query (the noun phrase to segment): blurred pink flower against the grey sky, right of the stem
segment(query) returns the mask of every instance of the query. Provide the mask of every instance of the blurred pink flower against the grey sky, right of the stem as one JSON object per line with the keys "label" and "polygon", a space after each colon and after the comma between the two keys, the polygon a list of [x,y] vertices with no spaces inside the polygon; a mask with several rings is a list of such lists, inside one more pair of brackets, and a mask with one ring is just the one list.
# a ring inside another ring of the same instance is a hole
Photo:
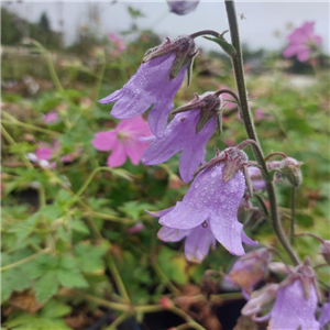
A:
{"label": "blurred pink flower against the grey sky, right of the stem", "polygon": [[287,36],[289,45],[284,50],[284,57],[297,55],[298,61],[306,62],[310,57],[311,50],[320,46],[322,38],[314,33],[315,22],[305,22]]}

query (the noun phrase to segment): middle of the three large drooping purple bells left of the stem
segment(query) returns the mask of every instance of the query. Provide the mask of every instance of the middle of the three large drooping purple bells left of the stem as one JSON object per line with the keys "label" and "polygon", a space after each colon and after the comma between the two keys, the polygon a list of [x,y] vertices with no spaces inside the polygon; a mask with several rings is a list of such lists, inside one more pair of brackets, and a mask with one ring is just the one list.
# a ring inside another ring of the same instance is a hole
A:
{"label": "middle of the three large drooping purple bells left of the stem", "polygon": [[145,165],[166,162],[178,152],[179,172],[183,180],[193,179],[194,172],[205,162],[205,145],[217,127],[221,99],[217,92],[206,92],[175,111],[177,113],[162,138],[152,138],[152,143],[142,156]]}

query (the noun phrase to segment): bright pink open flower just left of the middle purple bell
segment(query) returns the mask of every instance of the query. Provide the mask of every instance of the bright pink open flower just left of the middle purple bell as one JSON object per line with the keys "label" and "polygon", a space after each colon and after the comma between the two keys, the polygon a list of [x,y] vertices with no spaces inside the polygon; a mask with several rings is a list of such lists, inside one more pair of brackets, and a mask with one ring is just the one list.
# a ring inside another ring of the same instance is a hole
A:
{"label": "bright pink open flower just left of the middle purple bell", "polygon": [[112,150],[107,162],[110,167],[121,166],[127,157],[138,165],[148,145],[139,138],[151,134],[147,122],[139,116],[122,120],[113,131],[96,133],[91,143],[98,151]]}

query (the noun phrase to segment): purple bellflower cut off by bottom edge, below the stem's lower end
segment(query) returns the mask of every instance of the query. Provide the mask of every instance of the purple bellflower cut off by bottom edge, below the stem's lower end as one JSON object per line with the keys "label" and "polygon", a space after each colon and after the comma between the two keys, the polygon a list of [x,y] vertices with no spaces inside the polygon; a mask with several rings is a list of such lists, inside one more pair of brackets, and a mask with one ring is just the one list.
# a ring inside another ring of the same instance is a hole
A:
{"label": "purple bellflower cut off by bottom edge, below the stem's lower end", "polygon": [[306,258],[278,287],[276,301],[271,312],[255,321],[268,318],[270,330],[319,330],[315,312],[318,304],[316,275]]}

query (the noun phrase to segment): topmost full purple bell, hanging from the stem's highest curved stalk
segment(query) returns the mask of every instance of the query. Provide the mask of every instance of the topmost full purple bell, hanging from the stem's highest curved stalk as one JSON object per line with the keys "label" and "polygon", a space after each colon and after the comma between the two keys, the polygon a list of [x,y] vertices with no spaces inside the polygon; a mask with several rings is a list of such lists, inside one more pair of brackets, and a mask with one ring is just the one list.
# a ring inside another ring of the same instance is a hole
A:
{"label": "topmost full purple bell, hanging from the stem's highest curved stalk", "polygon": [[146,52],[136,74],[100,103],[114,102],[111,114],[119,119],[138,117],[152,107],[148,113],[151,131],[162,136],[167,117],[173,109],[173,98],[180,88],[187,67],[197,55],[194,38],[178,36]]}

